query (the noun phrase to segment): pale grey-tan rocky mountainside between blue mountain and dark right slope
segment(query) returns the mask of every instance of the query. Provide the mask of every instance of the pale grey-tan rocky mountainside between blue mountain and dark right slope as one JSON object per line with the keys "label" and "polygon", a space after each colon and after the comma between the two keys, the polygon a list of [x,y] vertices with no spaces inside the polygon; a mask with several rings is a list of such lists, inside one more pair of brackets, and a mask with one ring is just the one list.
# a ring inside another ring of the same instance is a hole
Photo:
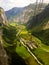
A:
{"label": "pale grey-tan rocky mountainside between blue mountain and dark right slope", "polygon": [[20,13],[15,20],[20,23],[26,23],[34,14],[34,4],[30,4],[29,6],[25,7],[25,9]]}

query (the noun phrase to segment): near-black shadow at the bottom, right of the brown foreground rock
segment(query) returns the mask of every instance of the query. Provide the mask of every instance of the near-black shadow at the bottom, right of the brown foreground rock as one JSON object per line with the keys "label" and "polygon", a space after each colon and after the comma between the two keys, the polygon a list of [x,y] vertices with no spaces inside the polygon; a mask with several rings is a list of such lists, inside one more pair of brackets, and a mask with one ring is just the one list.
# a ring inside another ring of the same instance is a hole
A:
{"label": "near-black shadow at the bottom, right of the brown foreground rock", "polygon": [[9,56],[9,65],[26,65],[25,60],[22,59],[16,52],[9,52],[6,48],[7,55]]}

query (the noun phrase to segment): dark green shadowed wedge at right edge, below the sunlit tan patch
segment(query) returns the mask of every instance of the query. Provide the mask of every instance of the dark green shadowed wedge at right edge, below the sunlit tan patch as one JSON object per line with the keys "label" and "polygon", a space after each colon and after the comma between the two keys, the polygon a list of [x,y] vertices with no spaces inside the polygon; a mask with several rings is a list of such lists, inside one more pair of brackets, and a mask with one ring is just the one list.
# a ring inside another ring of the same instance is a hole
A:
{"label": "dark green shadowed wedge at right edge, below the sunlit tan patch", "polygon": [[44,44],[49,45],[49,29],[33,32],[32,34],[38,37]]}

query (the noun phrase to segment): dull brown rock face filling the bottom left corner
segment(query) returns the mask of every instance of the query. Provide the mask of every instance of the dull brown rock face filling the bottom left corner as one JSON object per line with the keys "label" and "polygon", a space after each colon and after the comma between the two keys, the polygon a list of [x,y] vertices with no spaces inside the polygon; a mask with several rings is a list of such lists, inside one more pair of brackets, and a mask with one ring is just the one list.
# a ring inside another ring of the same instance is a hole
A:
{"label": "dull brown rock face filling the bottom left corner", "polygon": [[0,65],[8,65],[8,57],[1,43],[0,43]]}

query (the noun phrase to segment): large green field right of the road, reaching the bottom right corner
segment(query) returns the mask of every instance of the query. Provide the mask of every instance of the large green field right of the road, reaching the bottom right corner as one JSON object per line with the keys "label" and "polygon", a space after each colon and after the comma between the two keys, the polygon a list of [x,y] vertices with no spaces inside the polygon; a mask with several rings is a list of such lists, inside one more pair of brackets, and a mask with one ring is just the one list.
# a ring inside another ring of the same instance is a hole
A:
{"label": "large green field right of the road, reaching the bottom right corner", "polygon": [[33,51],[34,54],[44,65],[49,65],[49,46],[42,43],[37,37],[33,36],[33,38],[39,44],[39,47]]}

